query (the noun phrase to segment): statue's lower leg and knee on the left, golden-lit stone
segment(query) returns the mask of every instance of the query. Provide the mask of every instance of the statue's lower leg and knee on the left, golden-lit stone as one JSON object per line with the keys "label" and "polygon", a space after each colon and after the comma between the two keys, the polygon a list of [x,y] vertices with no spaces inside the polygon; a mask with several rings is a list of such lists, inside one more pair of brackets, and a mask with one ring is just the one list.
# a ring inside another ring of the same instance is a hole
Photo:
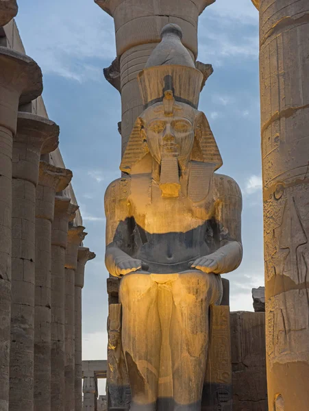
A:
{"label": "statue's lower leg and knee on the left, golden-lit stone", "polygon": [[132,391],[131,411],[156,410],[161,327],[158,284],[150,275],[132,273],[121,279],[122,343]]}

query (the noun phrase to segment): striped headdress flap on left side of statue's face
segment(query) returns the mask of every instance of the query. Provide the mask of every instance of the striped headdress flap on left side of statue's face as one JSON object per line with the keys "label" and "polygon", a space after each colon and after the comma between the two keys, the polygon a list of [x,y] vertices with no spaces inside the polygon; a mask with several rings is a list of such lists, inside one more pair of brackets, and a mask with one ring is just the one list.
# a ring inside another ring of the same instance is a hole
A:
{"label": "striped headdress flap on left side of statue's face", "polygon": [[138,117],[129,136],[120,169],[124,173],[131,173],[132,166],[142,160],[149,153],[143,119]]}

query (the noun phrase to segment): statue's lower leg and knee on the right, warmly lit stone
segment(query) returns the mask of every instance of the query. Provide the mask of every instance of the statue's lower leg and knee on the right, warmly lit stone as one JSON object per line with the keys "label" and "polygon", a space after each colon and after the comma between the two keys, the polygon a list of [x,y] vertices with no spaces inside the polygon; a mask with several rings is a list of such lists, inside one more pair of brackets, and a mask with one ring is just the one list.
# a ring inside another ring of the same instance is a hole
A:
{"label": "statue's lower leg and knee on the right, warmly lit stone", "polygon": [[217,303],[221,279],[199,271],[180,273],[173,282],[171,356],[175,410],[201,410],[206,371],[209,306]]}

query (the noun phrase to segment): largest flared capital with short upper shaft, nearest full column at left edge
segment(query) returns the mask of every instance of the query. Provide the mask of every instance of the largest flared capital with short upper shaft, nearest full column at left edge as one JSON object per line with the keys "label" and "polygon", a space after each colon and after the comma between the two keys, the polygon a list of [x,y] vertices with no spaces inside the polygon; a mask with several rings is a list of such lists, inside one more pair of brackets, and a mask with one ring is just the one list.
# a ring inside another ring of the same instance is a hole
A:
{"label": "largest flared capital with short upper shaft, nearest full column at left edge", "polygon": [[18,105],[42,94],[42,71],[27,55],[0,46],[0,125],[16,132]]}

